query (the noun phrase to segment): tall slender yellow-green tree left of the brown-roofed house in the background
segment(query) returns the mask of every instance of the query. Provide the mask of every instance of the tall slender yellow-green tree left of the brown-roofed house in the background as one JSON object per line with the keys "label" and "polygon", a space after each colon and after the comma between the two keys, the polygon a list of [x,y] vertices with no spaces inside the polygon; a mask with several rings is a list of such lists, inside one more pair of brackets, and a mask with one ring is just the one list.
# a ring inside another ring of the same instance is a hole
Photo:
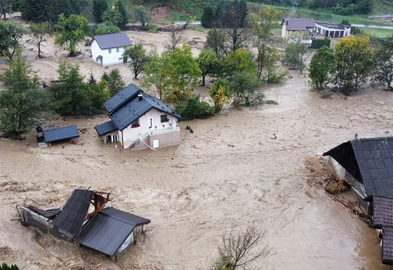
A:
{"label": "tall slender yellow-green tree left of the brown-roofed house in the background", "polygon": [[266,64],[267,41],[271,39],[271,30],[278,27],[278,21],[282,16],[280,10],[272,6],[263,7],[257,13],[251,14],[251,27],[255,36],[254,47],[257,50],[256,63],[258,66],[257,76],[262,77],[262,70]]}

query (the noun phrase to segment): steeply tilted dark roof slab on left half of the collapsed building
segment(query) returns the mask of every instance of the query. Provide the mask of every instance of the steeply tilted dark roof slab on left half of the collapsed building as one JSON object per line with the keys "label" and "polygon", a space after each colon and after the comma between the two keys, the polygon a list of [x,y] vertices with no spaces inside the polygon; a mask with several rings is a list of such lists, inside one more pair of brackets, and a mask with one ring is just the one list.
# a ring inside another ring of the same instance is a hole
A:
{"label": "steeply tilted dark roof slab on left half of the collapsed building", "polygon": [[79,235],[86,219],[92,196],[93,191],[91,190],[75,189],[60,214],[52,221],[52,225],[73,236]]}

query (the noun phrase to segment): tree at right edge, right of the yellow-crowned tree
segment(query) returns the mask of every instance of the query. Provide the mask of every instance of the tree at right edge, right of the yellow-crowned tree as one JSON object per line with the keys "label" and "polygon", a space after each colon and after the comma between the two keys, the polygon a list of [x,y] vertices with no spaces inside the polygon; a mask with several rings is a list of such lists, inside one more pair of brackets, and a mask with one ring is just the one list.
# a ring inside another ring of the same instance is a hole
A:
{"label": "tree at right edge, right of the yellow-crowned tree", "polygon": [[376,81],[386,82],[389,89],[393,81],[393,35],[386,38],[375,55],[373,78]]}

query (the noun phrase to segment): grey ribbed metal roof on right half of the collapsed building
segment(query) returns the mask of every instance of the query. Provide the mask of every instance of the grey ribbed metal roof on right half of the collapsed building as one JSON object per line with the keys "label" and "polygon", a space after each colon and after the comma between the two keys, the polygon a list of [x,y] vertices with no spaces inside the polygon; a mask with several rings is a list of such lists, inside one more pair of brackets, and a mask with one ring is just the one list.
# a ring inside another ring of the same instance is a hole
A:
{"label": "grey ribbed metal roof on right half of the collapsed building", "polygon": [[136,226],[147,223],[150,223],[149,219],[107,208],[90,218],[74,240],[113,256]]}

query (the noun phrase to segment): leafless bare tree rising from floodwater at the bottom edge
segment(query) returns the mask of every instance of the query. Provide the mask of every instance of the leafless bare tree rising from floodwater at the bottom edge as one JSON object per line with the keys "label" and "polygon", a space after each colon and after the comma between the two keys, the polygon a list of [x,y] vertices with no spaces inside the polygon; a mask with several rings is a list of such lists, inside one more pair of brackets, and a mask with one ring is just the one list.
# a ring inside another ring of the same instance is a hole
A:
{"label": "leafless bare tree rising from floodwater at the bottom edge", "polygon": [[223,246],[220,248],[221,258],[216,267],[228,270],[246,269],[253,261],[264,258],[272,251],[269,245],[257,248],[265,238],[266,230],[260,229],[256,223],[247,226],[245,231],[235,226],[222,234]]}

